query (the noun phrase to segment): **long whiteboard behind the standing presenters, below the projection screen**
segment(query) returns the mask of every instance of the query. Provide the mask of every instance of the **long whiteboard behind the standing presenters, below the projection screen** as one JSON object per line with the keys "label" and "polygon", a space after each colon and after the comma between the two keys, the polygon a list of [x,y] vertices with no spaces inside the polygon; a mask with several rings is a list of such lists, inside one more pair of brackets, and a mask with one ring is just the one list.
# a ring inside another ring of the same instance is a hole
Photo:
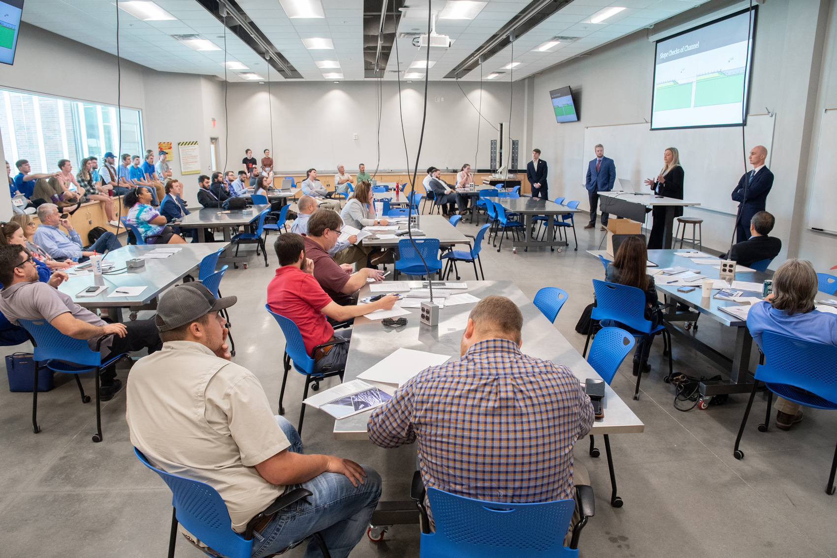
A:
{"label": "long whiteboard behind the standing presenters, below the projection screen", "polygon": [[733,202],[730,196],[738,179],[749,170],[744,166],[744,146],[747,153],[753,146],[767,147],[765,164],[769,167],[774,116],[775,113],[747,115],[743,145],[742,129],[737,126],[656,131],[650,131],[647,123],[590,126],[584,129],[582,176],[587,175],[588,161],[595,157],[593,146],[600,143],[604,146],[604,156],[614,160],[617,179],[628,178],[637,192],[650,192],[644,180],[660,172],[665,148],[676,147],[680,151],[680,165],[686,171],[684,199],[699,202],[698,209],[736,215],[738,202]]}

